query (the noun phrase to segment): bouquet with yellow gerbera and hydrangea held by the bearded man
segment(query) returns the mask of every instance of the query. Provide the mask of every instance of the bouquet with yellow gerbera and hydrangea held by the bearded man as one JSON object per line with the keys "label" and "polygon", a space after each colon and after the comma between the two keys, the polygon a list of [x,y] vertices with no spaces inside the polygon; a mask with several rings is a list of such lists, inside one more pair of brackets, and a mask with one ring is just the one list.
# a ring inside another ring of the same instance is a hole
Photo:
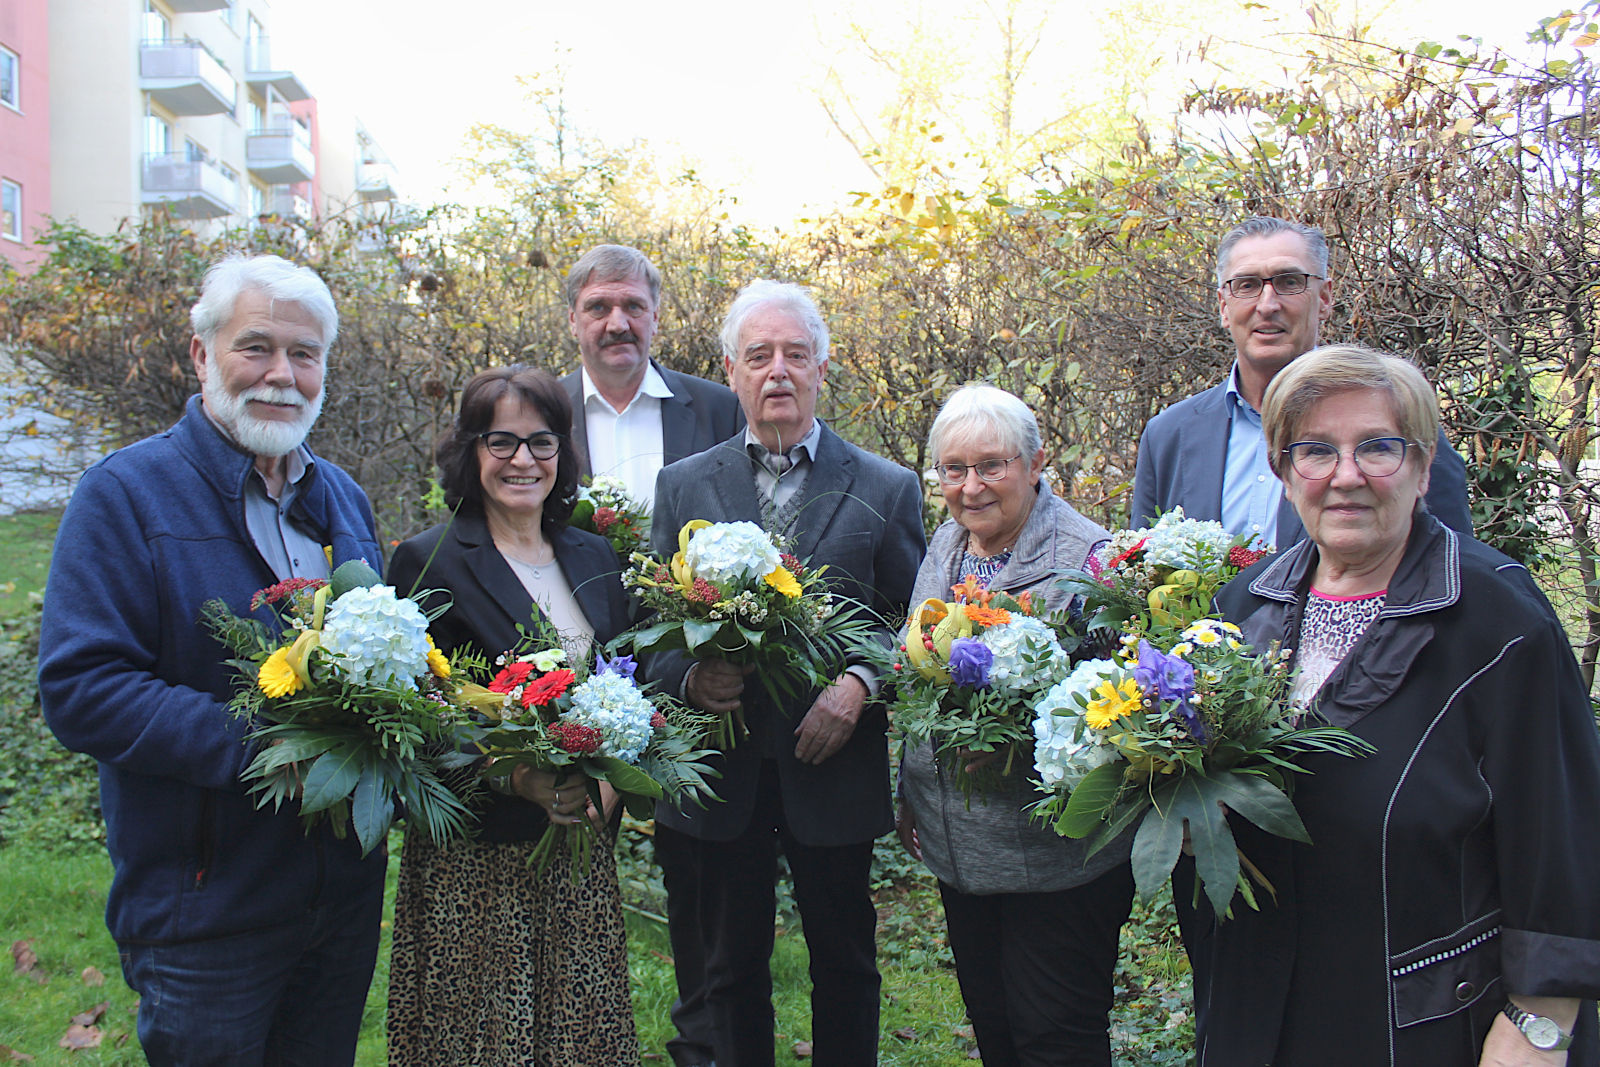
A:
{"label": "bouquet with yellow gerbera and hydrangea held by the bearded man", "polygon": [[294,577],[256,593],[282,629],[235,616],[221,600],[203,619],[235,656],[229,709],[254,723],[261,749],[245,769],[258,806],[298,800],[307,830],[350,825],[365,856],[389,833],[395,803],[435,841],[472,816],[440,779],[459,742],[454,670],[427,635],[427,616],[360,560],[331,581]]}

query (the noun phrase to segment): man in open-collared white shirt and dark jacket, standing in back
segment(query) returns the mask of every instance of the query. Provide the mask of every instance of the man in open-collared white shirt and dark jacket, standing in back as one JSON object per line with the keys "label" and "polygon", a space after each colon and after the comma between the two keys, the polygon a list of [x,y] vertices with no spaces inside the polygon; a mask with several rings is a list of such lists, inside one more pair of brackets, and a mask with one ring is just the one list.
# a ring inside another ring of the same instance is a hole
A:
{"label": "man in open-collared white shirt and dark jacket, standing in back", "polygon": [[573,264],[566,322],[582,357],[562,379],[573,402],[581,477],[621,478],[648,509],[664,466],[728,440],[744,424],[726,386],[650,358],[661,323],[661,270],[637,248],[598,245]]}

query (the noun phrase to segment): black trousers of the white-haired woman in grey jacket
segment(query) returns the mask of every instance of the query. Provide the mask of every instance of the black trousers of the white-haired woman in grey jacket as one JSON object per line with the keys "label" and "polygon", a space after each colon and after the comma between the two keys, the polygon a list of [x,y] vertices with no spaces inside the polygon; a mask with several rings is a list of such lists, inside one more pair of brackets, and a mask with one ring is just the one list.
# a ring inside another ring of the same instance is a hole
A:
{"label": "black trousers of the white-haired woman in grey jacket", "polygon": [[1110,1067],[1128,864],[1056,893],[970,896],[941,881],[939,894],[984,1067]]}

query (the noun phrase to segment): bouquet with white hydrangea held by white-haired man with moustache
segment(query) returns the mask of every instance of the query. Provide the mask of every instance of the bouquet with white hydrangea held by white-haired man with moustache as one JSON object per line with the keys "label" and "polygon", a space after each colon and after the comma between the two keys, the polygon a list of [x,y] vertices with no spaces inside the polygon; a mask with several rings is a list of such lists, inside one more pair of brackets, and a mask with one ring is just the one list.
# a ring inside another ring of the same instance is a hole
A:
{"label": "bouquet with white hydrangea held by white-haired man with moustache", "polygon": [[[784,697],[819,689],[872,629],[859,606],[843,608],[827,592],[824,571],[782,552],[755,523],[696,518],[678,531],[670,561],[634,553],[622,584],[654,611],[654,621],[614,645],[754,664],[762,683]],[[728,749],[744,733],[742,713],[734,712],[720,717],[710,742]]]}

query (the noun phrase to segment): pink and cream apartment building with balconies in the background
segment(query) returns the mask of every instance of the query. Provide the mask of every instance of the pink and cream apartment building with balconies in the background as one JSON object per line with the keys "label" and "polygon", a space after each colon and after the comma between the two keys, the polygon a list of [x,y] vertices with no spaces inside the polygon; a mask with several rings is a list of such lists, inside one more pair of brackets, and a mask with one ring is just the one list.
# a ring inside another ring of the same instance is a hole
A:
{"label": "pink and cream apartment building with balconies in the background", "polygon": [[94,232],[152,210],[202,230],[381,216],[394,168],[272,45],[266,0],[0,2],[0,75],[19,86],[19,104],[0,99],[16,112],[0,114],[0,189],[18,205],[0,254],[37,256],[46,213]]}

